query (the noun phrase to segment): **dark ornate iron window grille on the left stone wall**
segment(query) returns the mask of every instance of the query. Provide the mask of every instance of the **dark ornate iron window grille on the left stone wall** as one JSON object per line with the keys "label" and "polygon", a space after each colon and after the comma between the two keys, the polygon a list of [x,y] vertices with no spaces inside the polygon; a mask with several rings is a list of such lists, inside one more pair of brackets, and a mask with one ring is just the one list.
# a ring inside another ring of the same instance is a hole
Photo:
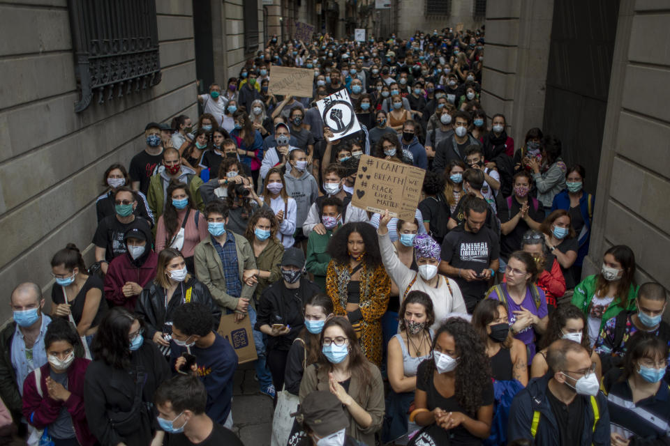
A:
{"label": "dark ornate iron window grille on the left stone wall", "polygon": [[156,0],[68,0],[75,75],[84,111],[161,82]]}

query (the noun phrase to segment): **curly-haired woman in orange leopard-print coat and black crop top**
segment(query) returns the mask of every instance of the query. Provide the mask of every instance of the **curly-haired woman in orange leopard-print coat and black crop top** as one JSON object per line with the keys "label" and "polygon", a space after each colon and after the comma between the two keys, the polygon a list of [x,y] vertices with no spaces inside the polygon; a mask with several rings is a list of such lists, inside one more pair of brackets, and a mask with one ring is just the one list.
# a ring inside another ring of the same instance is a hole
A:
{"label": "curly-haired woman in orange leopard-print coat and black crop top", "polygon": [[342,226],[328,245],[332,260],[326,272],[326,293],[335,314],[347,316],[368,360],[382,364],[382,324],[391,291],[379,252],[377,235],[367,222]]}

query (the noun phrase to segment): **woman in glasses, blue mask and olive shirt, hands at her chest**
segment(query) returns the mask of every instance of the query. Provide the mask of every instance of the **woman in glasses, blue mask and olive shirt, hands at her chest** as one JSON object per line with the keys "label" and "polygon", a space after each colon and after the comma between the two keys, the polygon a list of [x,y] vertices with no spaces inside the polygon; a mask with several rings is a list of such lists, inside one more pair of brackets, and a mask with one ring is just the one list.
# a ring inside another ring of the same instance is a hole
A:
{"label": "woman in glasses, blue mask and olive shirt, hands at her chest", "polygon": [[300,383],[300,402],[315,390],[330,391],[345,408],[347,435],[374,445],[384,417],[382,374],[366,359],[346,318],[326,321],[320,340],[319,359],[305,369]]}

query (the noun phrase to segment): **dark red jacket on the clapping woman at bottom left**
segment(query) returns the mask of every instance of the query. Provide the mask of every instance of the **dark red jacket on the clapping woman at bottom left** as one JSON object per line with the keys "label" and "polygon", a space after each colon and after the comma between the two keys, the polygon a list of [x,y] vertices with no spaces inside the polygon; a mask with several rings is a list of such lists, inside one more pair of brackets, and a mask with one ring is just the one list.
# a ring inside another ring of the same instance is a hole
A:
{"label": "dark red jacket on the clapping woman at bottom left", "polygon": [[49,396],[47,376],[50,374],[50,365],[48,362],[40,367],[42,372],[40,385],[42,386],[43,397],[40,397],[37,392],[35,372],[31,371],[23,382],[23,416],[26,417],[26,420],[37,429],[44,429],[45,426],[49,426],[57,420],[61,407],[65,405],[72,418],[75,436],[77,436],[79,444],[82,446],[95,445],[98,440],[89,431],[86,413],[84,413],[84,376],[89,362],[83,357],[75,357],[74,362],[70,365],[68,369],[70,397],[67,401],[57,401]]}

